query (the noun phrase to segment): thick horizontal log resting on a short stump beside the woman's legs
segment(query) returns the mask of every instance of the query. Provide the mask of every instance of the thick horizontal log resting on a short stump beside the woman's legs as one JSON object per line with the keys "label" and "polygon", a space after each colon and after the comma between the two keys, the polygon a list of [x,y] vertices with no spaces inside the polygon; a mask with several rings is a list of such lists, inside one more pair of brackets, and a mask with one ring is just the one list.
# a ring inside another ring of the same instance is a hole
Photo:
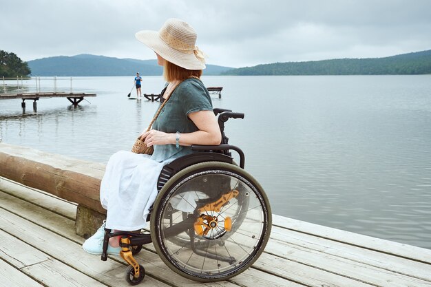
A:
{"label": "thick horizontal log resting on a short stump beside the woman's legs", "polygon": [[0,142],[0,176],[78,204],[76,234],[92,235],[106,211],[99,200],[105,164]]}

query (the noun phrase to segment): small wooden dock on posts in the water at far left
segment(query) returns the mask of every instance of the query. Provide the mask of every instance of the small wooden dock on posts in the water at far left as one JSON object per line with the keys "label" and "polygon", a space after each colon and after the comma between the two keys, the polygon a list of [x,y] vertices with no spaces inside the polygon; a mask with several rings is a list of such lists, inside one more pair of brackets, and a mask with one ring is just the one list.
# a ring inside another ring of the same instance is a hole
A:
{"label": "small wooden dock on posts in the water at far left", "polygon": [[96,96],[94,93],[65,93],[65,92],[43,92],[43,93],[21,93],[21,94],[0,94],[0,100],[10,100],[20,98],[23,100],[21,107],[25,109],[25,100],[33,100],[33,109],[36,110],[36,100],[39,98],[67,98],[75,107],[84,100],[85,97]]}

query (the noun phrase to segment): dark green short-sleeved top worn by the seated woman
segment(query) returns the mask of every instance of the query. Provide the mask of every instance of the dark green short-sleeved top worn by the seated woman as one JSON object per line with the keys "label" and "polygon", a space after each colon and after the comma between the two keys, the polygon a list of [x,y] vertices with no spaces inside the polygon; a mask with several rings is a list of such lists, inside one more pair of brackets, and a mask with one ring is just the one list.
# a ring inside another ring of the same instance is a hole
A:
{"label": "dark green short-sleeved top worn by the seated woman", "polygon": [[[161,105],[161,104],[160,104]],[[166,133],[187,134],[198,131],[198,127],[188,118],[195,111],[212,111],[211,97],[204,84],[196,78],[187,78],[176,87],[165,107],[162,108],[153,129]],[[176,145],[154,145],[152,160],[163,162],[192,153],[191,147]]]}

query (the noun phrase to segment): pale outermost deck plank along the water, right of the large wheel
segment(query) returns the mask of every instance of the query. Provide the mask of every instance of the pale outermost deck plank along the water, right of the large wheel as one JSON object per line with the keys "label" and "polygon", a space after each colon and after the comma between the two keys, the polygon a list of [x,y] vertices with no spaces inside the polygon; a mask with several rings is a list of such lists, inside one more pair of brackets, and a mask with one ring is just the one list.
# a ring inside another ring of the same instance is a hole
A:
{"label": "pale outermost deck plank along the water, right of the large wheel", "polygon": [[417,246],[381,240],[379,238],[360,235],[349,231],[341,231],[336,228],[302,222],[292,218],[282,217],[280,215],[273,215],[273,225],[326,238],[328,240],[344,242],[346,244],[361,246],[362,248],[368,248],[399,257],[414,259],[426,264],[431,264],[431,251],[429,249],[420,248]]}

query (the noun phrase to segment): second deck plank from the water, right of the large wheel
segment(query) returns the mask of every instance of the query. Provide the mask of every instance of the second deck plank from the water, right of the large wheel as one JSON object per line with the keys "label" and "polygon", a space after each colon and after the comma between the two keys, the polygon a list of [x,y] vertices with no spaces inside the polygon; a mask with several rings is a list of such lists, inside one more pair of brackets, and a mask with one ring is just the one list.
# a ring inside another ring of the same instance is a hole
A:
{"label": "second deck plank from the water, right of the large wheel", "polygon": [[297,233],[277,226],[273,226],[271,236],[286,244],[302,246],[314,251],[350,259],[354,262],[362,262],[401,275],[408,275],[430,281],[431,284],[431,265],[429,264],[423,264],[403,257],[379,253],[378,251],[351,246],[341,242],[325,240],[321,237]]}

